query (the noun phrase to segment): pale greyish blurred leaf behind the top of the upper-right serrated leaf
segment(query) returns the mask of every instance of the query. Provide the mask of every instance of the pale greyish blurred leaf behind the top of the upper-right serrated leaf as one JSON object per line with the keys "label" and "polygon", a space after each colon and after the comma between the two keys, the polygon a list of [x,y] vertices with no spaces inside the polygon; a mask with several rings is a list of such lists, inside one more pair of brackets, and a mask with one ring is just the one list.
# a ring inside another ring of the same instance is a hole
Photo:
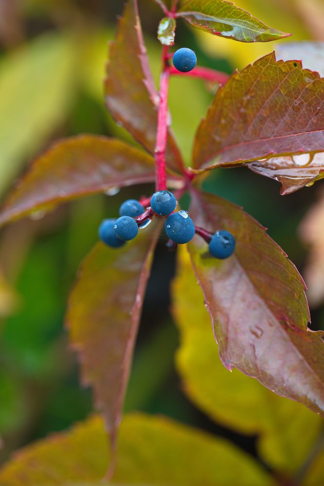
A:
{"label": "pale greyish blurred leaf behind the top of the upper-right serrated leaf", "polygon": [[304,69],[318,71],[324,77],[324,42],[285,42],[275,49],[277,59],[303,61]]}

